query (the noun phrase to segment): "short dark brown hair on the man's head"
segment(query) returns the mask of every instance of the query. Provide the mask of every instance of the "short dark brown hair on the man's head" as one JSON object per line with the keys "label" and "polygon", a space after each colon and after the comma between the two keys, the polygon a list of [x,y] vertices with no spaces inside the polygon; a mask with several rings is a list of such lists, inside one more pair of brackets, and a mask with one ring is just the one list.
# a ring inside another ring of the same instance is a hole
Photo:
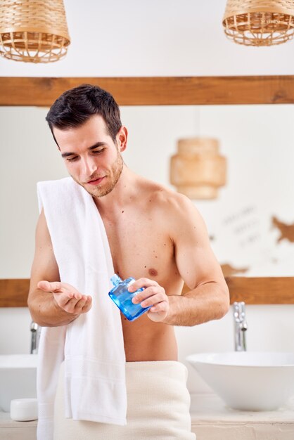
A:
{"label": "short dark brown hair on the man's head", "polygon": [[[79,127],[92,115],[101,115],[106,123],[108,134],[115,142],[115,136],[122,127],[120,108],[113,96],[106,90],[91,84],[82,84],[65,91],[46,116],[54,141],[53,127],[60,130]],[[57,142],[56,142],[57,143]]]}

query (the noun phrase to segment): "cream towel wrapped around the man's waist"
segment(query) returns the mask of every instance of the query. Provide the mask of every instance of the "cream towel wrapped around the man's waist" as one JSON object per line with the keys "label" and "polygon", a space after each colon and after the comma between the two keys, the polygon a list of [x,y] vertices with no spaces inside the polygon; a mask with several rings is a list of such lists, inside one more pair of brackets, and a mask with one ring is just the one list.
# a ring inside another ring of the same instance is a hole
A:
{"label": "cream towel wrapped around the man's waist", "polygon": [[64,418],[63,374],[56,394],[54,440],[195,440],[186,366],[177,361],[127,362],[127,425]]}

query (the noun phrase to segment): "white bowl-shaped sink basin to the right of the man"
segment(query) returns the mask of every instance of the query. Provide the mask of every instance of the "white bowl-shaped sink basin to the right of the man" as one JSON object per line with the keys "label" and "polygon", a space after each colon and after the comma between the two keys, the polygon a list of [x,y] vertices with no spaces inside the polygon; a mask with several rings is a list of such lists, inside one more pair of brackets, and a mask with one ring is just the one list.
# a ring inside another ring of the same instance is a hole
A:
{"label": "white bowl-shaped sink basin to the right of the man", "polygon": [[294,353],[201,353],[186,360],[234,409],[275,410],[294,395]]}

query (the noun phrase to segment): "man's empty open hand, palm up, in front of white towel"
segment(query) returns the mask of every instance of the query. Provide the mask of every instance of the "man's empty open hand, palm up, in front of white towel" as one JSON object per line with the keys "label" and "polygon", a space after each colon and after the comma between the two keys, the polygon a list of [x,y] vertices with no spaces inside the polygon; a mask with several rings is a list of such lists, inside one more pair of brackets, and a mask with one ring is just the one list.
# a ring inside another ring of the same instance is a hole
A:
{"label": "man's empty open hand, palm up, in front of white towel", "polygon": [[43,292],[53,293],[58,307],[67,313],[79,315],[80,313],[87,313],[91,309],[92,298],[89,295],[82,295],[68,283],[39,281],[37,287]]}

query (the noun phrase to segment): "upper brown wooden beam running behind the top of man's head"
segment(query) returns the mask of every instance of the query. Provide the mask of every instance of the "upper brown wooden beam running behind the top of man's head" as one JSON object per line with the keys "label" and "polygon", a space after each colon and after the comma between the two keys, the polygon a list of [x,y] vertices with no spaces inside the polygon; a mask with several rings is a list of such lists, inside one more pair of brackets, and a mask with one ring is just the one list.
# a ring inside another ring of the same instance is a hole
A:
{"label": "upper brown wooden beam running behind the top of man's head", "polygon": [[256,77],[0,77],[0,105],[49,107],[63,91],[101,86],[119,105],[294,103],[294,75]]}

